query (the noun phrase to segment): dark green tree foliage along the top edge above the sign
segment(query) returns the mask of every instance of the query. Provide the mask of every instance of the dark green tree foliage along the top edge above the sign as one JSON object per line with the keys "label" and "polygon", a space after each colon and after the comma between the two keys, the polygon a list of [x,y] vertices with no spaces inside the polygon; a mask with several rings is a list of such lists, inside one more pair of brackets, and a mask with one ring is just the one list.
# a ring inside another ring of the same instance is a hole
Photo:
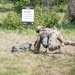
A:
{"label": "dark green tree foliage along the top edge above the sign", "polygon": [[51,8],[52,5],[60,5],[66,0],[10,0],[13,4],[17,12],[21,12],[22,6],[44,6],[47,8]]}

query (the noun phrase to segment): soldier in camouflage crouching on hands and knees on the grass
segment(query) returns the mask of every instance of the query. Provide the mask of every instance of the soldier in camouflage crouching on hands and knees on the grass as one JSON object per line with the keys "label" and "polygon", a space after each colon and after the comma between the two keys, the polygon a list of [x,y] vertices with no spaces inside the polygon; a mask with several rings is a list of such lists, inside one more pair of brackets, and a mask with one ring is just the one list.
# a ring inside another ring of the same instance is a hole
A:
{"label": "soldier in camouflage crouching on hands and knees on the grass", "polygon": [[[39,52],[40,50],[40,44],[42,44],[46,48],[46,51],[48,48],[50,51],[59,49],[59,52],[61,52],[60,49],[64,45],[75,46],[75,42],[65,40],[60,31],[58,31],[56,28],[43,28],[42,26],[38,26],[36,28],[36,32],[38,33],[38,38],[36,43],[34,44],[34,50],[36,50],[37,52]],[[61,44],[58,44],[56,42],[57,40]]]}

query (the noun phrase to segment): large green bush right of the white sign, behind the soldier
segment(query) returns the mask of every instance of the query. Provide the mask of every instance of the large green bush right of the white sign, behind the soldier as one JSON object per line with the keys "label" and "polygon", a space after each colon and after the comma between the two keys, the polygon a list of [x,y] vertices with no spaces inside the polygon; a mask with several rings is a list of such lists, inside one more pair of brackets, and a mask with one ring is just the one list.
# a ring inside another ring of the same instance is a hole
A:
{"label": "large green bush right of the white sign, behind the soldier", "polygon": [[43,25],[44,27],[54,27],[59,26],[59,15],[54,10],[48,8],[36,7],[35,8],[35,23],[34,28],[38,25]]}

